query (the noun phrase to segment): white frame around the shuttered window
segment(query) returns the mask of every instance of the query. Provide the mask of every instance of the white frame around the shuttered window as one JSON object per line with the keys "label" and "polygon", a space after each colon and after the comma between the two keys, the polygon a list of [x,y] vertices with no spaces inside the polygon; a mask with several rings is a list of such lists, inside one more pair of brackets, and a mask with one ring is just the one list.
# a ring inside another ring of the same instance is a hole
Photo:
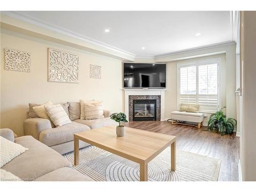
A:
{"label": "white frame around the shuttered window", "polygon": [[[217,110],[210,110],[210,109],[203,109],[199,110],[199,112],[203,113],[215,113],[216,111],[220,110],[221,106],[221,57],[218,58],[210,58],[210,59],[202,59],[202,60],[195,60],[195,61],[189,61],[189,62],[178,62],[177,63],[177,110],[180,108],[180,68],[181,67],[191,67],[196,66],[196,97],[197,97],[197,103],[198,103],[198,66],[202,65],[210,65],[217,63],[217,75],[218,75],[218,90],[217,90]],[[203,95],[203,94],[202,94]],[[200,109],[200,108],[199,108]]]}

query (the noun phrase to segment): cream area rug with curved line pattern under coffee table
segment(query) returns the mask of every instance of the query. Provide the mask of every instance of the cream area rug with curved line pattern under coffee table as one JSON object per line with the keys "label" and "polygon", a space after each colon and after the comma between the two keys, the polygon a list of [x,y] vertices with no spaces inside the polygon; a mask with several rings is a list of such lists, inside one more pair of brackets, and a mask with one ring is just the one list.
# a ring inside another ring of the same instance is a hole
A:
{"label": "cream area rug with curved line pattern under coffee table", "polygon": [[[217,181],[220,159],[177,150],[176,171],[170,171],[170,148],[148,163],[148,181]],[[74,153],[65,155],[74,164]],[[95,146],[79,150],[80,173],[95,181],[139,181],[139,164]]]}

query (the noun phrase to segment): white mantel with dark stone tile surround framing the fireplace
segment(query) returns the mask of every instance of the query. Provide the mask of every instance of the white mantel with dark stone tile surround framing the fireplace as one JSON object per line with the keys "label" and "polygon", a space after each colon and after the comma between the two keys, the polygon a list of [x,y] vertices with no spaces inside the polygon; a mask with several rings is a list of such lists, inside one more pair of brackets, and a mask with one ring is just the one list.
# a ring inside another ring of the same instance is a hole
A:
{"label": "white mantel with dark stone tile surround framing the fireplace", "polygon": [[164,91],[166,89],[123,89],[124,111],[129,121],[133,116],[132,99],[157,99],[157,120],[164,121]]}

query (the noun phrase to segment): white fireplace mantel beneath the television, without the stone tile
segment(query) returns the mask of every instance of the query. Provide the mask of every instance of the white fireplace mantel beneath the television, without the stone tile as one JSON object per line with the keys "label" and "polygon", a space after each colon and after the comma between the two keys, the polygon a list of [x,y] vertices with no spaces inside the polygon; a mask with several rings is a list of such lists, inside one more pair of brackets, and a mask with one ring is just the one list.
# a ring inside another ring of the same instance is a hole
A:
{"label": "white fireplace mantel beneath the television, without the stone tile", "polygon": [[129,95],[160,95],[161,96],[161,121],[164,121],[164,91],[166,89],[125,89],[124,90],[124,113],[129,117]]}

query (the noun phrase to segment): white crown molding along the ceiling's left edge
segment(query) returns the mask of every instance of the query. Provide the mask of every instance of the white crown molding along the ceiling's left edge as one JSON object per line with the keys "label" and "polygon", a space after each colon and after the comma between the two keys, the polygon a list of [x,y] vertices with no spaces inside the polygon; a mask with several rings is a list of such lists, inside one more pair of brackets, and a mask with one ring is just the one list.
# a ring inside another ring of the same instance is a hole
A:
{"label": "white crown molding along the ceiling's left edge", "polygon": [[25,23],[28,23],[28,24],[31,24],[31,25],[34,25],[34,26],[37,26],[37,27],[40,27],[40,28],[44,28],[44,29],[47,29],[47,30],[50,30],[50,31],[54,31],[56,33],[60,33],[60,34],[63,34],[63,35],[67,35],[69,37],[73,37],[73,38],[76,38],[76,39],[80,39],[82,41],[89,42],[90,44],[92,44],[94,46],[101,47],[101,48],[104,48],[104,49],[108,49],[108,50],[111,50],[111,51],[114,51],[114,52],[118,52],[120,54],[124,54],[124,55],[127,55],[129,57],[134,57],[135,58],[135,56],[136,56],[133,53],[127,52],[125,50],[119,49],[117,47],[114,47],[114,46],[111,46],[111,45],[108,45],[108,44],[105,44],[104,42],[95,40],[93,38],[80,35],[78,33],[72,32],[70,30],[63,29],[63,28],[60,28],[60,27],[55,26],[55,25],[51,25],[47,22],[36,19],[36,18],[31,17],[31,16],[26,15],[26,14],[20,14],[20,13],[17,13],[15,11],[1,11],[1,14],[7,15],[7,16],[12,17],[12,18],[15,18],[17,20],[21,20],[22,22],[25,22]]}

